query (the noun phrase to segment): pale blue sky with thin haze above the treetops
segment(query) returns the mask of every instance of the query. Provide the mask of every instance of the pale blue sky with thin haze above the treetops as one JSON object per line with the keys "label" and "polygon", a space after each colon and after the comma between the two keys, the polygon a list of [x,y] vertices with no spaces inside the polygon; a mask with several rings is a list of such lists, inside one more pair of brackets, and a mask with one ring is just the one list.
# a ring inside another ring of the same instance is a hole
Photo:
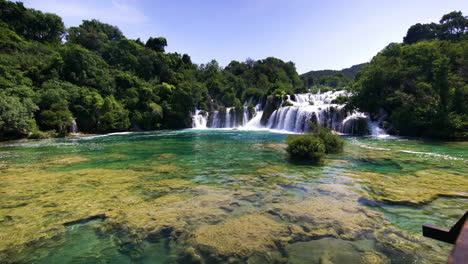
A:
{"label": "pale blue sky with thin haze above the treetops", "polygon": [[197,64],[226,66],[277,57],[299,73],[368,62],[416,23],[451,11],[468,15],[466,0],[23,0],[55,13],[65,26],[98,19],[129,39],[165,37],[166,51]]}

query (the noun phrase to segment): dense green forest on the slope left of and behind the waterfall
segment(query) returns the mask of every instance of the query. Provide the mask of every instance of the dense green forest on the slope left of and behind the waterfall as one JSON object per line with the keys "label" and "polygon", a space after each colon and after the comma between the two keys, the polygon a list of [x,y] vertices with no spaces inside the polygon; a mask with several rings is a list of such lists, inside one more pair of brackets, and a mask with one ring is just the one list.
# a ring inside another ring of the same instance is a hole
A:
{"label": "dense green forest on the slope left of and behind the waterfall", "polygon": [[292,62],[275,58],[193,64],[168,42],[127,39],[85,20],[65,29],[53,14],[0,0],[0,139],[184,128],[195,107],[242,106],[274,91],[303,91]]}

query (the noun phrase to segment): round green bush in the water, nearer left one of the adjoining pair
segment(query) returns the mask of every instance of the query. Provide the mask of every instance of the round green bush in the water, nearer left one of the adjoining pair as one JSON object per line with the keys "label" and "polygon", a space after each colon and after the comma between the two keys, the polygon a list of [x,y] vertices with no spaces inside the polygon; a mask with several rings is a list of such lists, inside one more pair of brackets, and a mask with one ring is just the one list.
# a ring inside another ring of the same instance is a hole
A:
{"label": "round green bush in the water, nearer left one of the adjoining pair", "polygon": [[293,159],[320,161],[325,156],[323,141],[315,135],[289,135],[286,138],[286,151]]}

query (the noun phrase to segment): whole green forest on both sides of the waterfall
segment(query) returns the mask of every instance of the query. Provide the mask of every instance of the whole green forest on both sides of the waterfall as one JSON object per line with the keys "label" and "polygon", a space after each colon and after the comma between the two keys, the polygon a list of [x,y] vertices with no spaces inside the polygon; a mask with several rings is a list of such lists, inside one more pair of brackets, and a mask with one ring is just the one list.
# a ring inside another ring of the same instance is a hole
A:
{"label": "whole green forest on both sides of the waterfall", "polygon": [[269,57],[194,64],[168,53],[164,37],[127,39],[115,26],[61,17],[0,0],[0,140],[179,129],[205,111],[255,105],[319,88],[350,89],[350,109],[384,111],[399,135],[468,138],[468,23],[461,12],[412,26],[353,80],[299,76]]}

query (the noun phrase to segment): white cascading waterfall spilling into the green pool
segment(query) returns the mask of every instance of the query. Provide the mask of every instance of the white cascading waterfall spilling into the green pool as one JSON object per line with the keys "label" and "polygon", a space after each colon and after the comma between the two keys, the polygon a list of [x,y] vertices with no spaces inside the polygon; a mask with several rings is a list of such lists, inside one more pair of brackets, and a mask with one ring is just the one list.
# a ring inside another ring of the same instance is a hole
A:
{"label": "white cascading waterfall spilling into the green pool", "polygon": [[289,106],[275,110],[264,125],[261,123],[264,111],[260,104],[250,111],[247,106],[242,111],[232,107],[211,113],[196,110],[192,116],[193,128],[270,129],[303,133],[311,130],[309,121],[312,121],[342,134],[387,136],[378,125],[381,120],[372,122],[368,114],[347,112],[344,105],[334,104],[333,101],[339,96],[349,94],[346,91],[329,91],[288,95],[285,101]]}

